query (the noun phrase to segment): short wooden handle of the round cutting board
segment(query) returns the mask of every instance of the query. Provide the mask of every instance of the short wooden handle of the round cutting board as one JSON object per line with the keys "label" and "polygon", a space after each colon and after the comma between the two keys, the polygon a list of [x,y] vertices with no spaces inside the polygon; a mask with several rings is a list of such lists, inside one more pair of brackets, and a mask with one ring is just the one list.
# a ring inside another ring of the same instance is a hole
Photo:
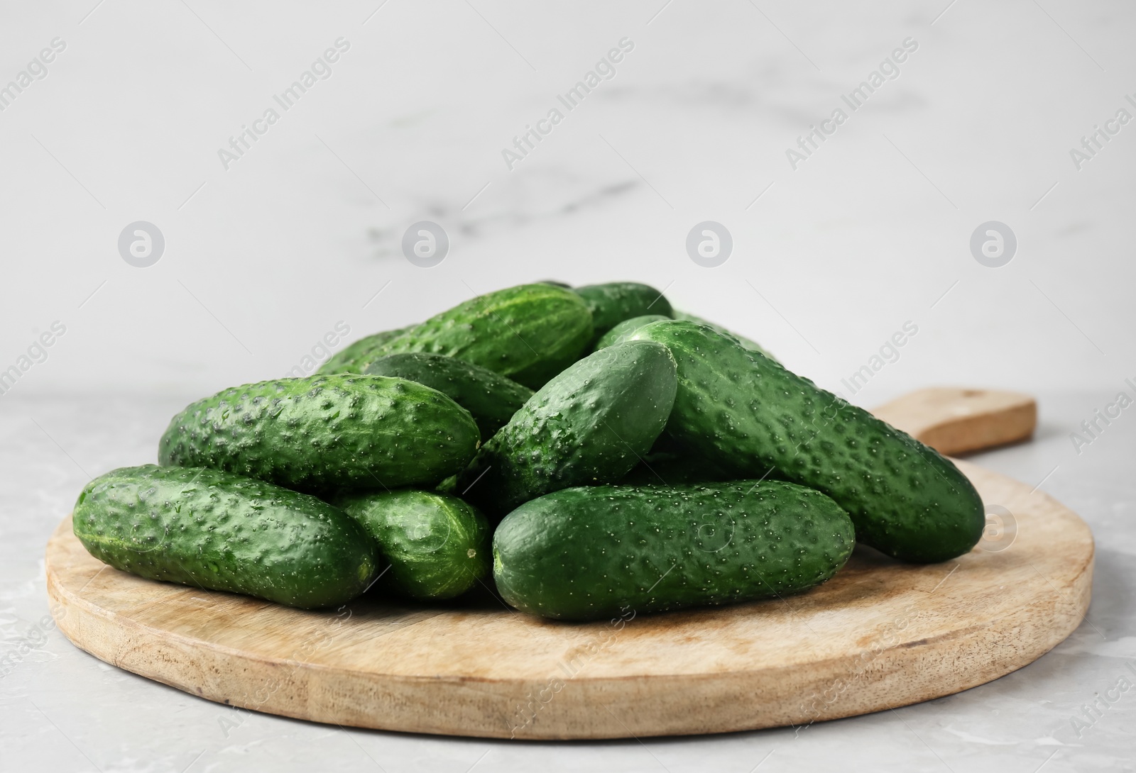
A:
{"label": "short wooden handle of the round cutting board", "polygon": [[929,387],[871,412],[947,456],[1025,440],[1037,427],[1033,397],[995,389]]}

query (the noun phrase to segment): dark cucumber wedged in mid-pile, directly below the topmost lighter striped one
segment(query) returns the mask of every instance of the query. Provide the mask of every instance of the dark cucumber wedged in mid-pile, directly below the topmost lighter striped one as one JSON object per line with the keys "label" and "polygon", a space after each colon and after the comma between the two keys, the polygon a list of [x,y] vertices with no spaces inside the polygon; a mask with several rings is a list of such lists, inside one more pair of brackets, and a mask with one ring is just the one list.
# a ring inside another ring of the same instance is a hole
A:
{"label": "dark cucumber wedged in mid-pile, directly below the topmost lighter striped one", "polygon": [[396,376],[437,389],[469,411],[483,438],[504,427],[533,390],[456,358],[426,352],[389,354],[367,366],[369,376]]}

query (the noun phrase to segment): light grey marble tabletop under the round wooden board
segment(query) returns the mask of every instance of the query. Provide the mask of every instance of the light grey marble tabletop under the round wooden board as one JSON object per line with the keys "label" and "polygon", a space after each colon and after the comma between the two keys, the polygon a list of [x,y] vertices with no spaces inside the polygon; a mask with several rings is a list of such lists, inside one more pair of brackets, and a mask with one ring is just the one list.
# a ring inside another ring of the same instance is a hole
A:
{"label": "light grey marble tabletop under the round wooden board", "polygon": [[[1133,770],[1136,690],[1136,425],[1124,415],[1078,454],[1069,432],[1109,393],[1041,396],[1027,444],[975,455],[1053,495],[1096,538],[1087,620],[1053,652],[993,683],[817,724],[702,738],[533,743],[344,730],[239,712],[109,666],[57,630],[43,546],[89,474],[151,460],[186,400],[5,398],[0,411],[0,630],[19,653],[0,680],[0,768],[43,771],[620,770],[765,772]],[[1012,549],[1012,548],[1011,548]],[[1039,580],[1041,581],[1041,580]],[[7,669],[6,669],[7,670]],[[1119,696],[1088,726],[1083,706]],[[1079,734],[1078,734],[1079,731]]]}

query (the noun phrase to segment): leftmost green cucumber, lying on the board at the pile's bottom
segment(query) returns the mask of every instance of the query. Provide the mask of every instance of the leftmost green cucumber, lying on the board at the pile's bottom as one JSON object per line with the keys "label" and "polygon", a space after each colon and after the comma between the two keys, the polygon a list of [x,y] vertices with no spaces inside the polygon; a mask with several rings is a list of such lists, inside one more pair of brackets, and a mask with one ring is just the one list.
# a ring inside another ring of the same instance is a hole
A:
{"label": "leftmost green cucumber, lying on the board at the pile's bottom", "polygon": [[75,536],[99,561],[152,580],[300,608],[344,604],[377,565],[370,537],[307,494],[204,468],[120,468],[75,503]]}

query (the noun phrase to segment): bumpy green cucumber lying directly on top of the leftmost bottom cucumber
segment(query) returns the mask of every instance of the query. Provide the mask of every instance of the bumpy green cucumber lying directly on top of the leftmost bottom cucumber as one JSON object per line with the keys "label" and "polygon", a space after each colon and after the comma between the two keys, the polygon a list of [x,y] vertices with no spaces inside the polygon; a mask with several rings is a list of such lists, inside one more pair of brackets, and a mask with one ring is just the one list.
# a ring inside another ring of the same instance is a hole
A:
{"label": "bumpy green cucumber lying directly on top of the leftmost bottom cucumber", "polygon": [[369,490],[437,482],[466,467],[479,439],[469,412],[436,389],[333,373],[200,400],[169,422],[158,459],[311,493]]}

